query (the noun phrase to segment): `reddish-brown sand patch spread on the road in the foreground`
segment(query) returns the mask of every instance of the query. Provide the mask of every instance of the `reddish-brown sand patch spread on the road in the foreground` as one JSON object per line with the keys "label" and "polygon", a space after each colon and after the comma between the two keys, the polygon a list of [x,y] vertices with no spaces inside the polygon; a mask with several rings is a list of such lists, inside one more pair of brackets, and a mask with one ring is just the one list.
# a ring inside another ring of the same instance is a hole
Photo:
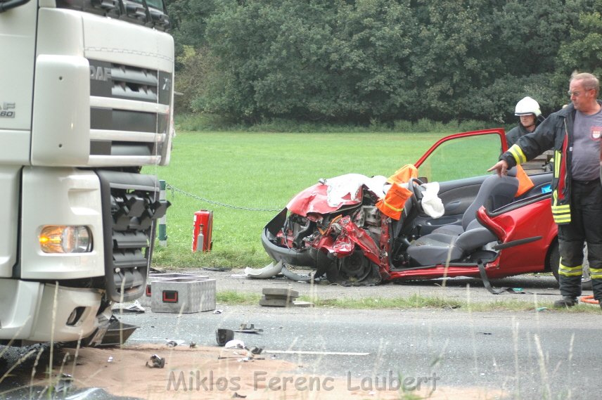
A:
{"label": "reddish-brown sand patch spread on the road in the foreground", "polygon": [[[271,359],[269,354],[241,361],[248,356],[244,350],[218,347],[162,347],[151,344],[123,348],[62,349],[55,359],[68,361],[56,366],[53,376],[69,373],[73,378],[71,392],[84,388],[103,388],[111,396],[135,399],[500,399],[503,392],[485,388],[440,387],[433,382],[386,382],[364,378],[348,380],[295,373],[297,366],[288,361]],[[153,354],[165,359],[164,368],[148,368]],[[264,359],[257,359],[264,358]],[[10,379],[27,382],[40,388],[56,385],[44,378],[44,367],[37,366],[32,379],[31,366],[16,368]],[[384,379],[384,380],[383,380]],[[404,386],[406,385],[406,386]],[[397,387],[408,389],[403,392]],[[23,386],[22,386],[23,387]],[[1,386],[0,386],[1,388]],[[411,391],[410,391],[411,389]],[[434,390],[433,390],[434,389]],[[2,389],[0,389],[2,394]],[[408,396],[404,396],[408,394]],[[2,396],[11,399],[11,394]],[[237,397],[238,396],[238,397]],[[61,397],[62,398],[62,397]]]}

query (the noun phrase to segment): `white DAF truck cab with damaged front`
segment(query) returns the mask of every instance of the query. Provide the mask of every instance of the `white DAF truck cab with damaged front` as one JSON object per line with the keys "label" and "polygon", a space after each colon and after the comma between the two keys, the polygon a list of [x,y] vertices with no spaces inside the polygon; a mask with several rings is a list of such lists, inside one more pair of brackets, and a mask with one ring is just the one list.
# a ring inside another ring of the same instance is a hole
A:
{"label": "white DAF truck cab with damaged front", "polygon": [[0,0],[0,343],[102,339],[146,285],[169,162],[162,0]]}

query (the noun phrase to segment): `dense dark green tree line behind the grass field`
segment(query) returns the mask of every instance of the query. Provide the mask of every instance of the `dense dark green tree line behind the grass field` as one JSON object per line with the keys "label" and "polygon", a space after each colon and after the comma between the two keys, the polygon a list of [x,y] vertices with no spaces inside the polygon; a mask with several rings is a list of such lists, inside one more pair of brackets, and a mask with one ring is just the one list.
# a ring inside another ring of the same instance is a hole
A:
{"label": "dense dark green tree line behind the grass field", "polygon": [[602,0],[169,0],[178,112],[515,120],[602,72]]}

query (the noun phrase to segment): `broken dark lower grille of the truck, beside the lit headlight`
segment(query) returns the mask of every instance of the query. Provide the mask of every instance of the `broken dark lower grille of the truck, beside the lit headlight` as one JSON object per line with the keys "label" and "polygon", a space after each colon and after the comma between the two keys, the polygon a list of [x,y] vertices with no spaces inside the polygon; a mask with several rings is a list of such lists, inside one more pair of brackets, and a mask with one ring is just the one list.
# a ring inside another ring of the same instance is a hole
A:
{"label": "broken dark lower grille of the truck, beside the lit headlight", "polygon": [[114,302],[128,302],[140,297],[146,288],[156,221],[165,215],[169,202],[159,200],[154,176],[96,173],[103,203],[105,288]]}

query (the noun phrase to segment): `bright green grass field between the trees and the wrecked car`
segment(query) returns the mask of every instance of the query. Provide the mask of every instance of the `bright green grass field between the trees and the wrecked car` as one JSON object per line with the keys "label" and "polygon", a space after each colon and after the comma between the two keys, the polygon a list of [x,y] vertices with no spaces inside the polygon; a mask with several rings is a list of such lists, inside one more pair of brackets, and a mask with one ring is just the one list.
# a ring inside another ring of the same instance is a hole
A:
{"label": "bright green grass field between the trees and the wrecked car", "polygon": [[[450,132],[451,133],[451,132]],[[359,173],[390,176],[416,162],[447,134],[272,134],[179,132],[168,167],[147,167],[168,185],[167,247],[156,247],[155,266],[264,266],[263,226],[277,212],[214,205],[281,209],[320,178]],[[454,163],[457,164],[456,160]],[[491,165],[487,160],[484,165]],[[482,169],[482,166],[479,167]],[[214,213],[213,250],[191,252],[193,214]]]}

